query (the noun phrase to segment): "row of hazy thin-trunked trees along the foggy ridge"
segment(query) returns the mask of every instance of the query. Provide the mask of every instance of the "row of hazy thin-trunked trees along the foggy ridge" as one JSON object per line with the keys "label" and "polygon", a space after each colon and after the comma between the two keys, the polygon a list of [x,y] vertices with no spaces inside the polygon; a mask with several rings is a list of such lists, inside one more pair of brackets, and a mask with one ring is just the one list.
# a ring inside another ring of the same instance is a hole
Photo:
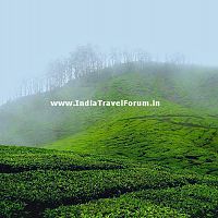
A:
{"label": "row of hazy thin-trunked trees along the foggy ridge", "polygon": [[[158,60],[143,49],[131,51],[113,49],[110,53],[104,53],[92,45],[78,46],[68,58],[52,61],[44,77],[24,81],[15,98],[50,92],[85,76],[98,76],[104,69],[128,66],[133,63],[143,69],[147,63],[155,61]],[[175,53],[166,57],[165,62],[179,65],[185,64],[185,59],[184,56]]]}

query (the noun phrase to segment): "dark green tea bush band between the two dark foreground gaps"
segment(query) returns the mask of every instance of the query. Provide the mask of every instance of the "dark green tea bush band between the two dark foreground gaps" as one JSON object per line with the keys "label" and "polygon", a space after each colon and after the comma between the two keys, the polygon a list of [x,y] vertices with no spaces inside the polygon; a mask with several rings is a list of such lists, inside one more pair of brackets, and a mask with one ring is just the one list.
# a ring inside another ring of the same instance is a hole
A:
{"label": "dark green tea bush band between the two dark foreground gaps", "polygon": [[2,201],[21,202],[26,204],[29,210],[37,211],[62,204],[111,197],[141,189],[187,184],[183,177],[146,168],[84,171],[37,170],[13,174],[2,173],[0,181]]}

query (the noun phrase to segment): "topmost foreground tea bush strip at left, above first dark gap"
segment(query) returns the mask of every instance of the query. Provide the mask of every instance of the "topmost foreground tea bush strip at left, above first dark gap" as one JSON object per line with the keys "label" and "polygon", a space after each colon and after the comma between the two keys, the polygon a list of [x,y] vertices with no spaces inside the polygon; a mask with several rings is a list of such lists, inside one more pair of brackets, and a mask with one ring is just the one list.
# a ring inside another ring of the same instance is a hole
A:
{"label": "topmost foreground tea bush strip at left, above first dark gap", "polygon": [[74,153],[48,149],[0,146],[0,172],[22,172],[27,170],[94,170],[124,168],[119,162],[112,162],[94,157],[80,156]]}

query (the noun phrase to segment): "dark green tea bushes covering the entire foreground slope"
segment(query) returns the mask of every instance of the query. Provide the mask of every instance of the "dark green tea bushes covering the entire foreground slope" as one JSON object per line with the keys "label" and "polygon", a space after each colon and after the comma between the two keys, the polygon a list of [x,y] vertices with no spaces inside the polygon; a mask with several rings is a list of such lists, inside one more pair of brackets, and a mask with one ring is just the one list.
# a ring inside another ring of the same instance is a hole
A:
{"label": "dark green tea bushes covering the entire foreground slope", "polygon": [[215,217],[218,209],[211,175],[41,148],[1,146],[3,155],[3,217]]}

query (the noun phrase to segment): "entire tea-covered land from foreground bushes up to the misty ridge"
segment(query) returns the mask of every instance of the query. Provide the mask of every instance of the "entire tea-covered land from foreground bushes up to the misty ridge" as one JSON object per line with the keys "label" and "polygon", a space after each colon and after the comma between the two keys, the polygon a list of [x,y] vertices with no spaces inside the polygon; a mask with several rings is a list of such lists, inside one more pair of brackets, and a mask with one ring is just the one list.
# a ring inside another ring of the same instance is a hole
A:
{"label": "entire tea-covered land from foreground bushes up to the misty ridge", "polygon": [[[131,64],[2,106],[0,144],[28,147],[0,146],[1,215],[216,217],[217,84],[213,68]],[[50,106],[74,99],[160,106]]]}

